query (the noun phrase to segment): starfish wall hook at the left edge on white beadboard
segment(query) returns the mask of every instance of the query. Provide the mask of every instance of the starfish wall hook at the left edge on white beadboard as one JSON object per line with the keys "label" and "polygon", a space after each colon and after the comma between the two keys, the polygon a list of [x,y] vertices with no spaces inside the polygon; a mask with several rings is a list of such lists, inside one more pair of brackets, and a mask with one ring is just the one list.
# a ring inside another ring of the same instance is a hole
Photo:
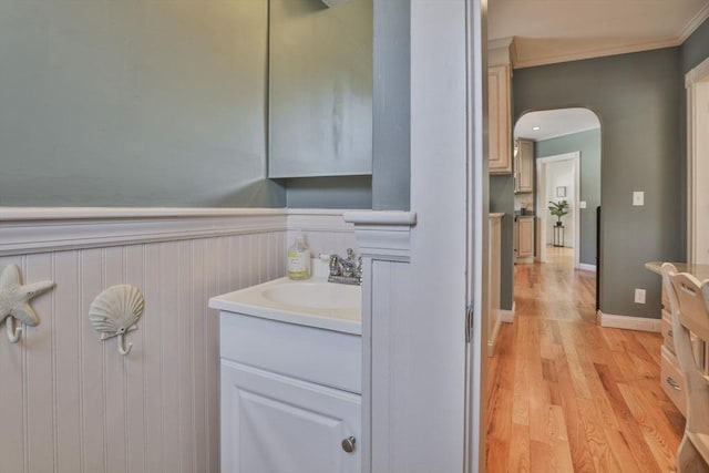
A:
{"label": "starfish wall hook at the left edge on white beadboard", "polygon": [[40,281],[22,285],[20,268],[8,265],[0,273],[0,323],[7,319],[8,338],[17,343],[22,335],[22,328],[16,328],[16,320],[28,327],[35,327],[40,318],[30,306],[30,299],[47,292],[54,287],[53,281]]}

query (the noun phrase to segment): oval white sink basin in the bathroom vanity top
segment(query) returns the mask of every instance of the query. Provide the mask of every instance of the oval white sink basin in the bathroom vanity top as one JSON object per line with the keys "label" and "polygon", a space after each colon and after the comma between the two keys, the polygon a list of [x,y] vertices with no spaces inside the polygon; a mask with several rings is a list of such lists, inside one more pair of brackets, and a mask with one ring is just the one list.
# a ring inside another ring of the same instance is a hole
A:
{"label": "oval white sink basin in the bathroom vanity top", "polygon": [[263,294],[274,302],[308,309],[359,309],[361,306],[359,287],[333,282],[288,282],[273,286]]}

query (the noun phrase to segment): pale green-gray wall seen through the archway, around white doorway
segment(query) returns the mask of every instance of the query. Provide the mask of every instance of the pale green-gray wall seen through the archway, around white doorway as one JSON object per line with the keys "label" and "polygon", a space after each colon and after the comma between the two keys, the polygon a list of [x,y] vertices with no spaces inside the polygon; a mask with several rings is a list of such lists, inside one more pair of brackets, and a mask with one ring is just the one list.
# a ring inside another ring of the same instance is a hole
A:
{"label": "pale green-gray wall seen through the archway, around white doorway", "polygon": [[600,205],[600,128],[573,133],[535,143],[535,157],[580,152],[580,200],[586,208],[580,213],[579,259],[596,265],[596,207]]}

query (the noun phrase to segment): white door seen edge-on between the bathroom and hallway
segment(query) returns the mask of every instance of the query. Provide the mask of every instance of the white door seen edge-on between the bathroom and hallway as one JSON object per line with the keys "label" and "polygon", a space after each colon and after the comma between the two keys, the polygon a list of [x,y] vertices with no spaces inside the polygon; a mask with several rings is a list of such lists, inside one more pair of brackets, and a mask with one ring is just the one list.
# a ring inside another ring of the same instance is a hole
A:
{"label": "white door seen edge-on between the bathroom and hallway", "polygon": [[[467,348],[465,393],[465,471],[485,471],[487,409],[487,74],[486,13],[481,0],[469,0],[467,9]],[[511,140],[511,137],[510,137]],[[485,270],[483,270],[485,268]]]}

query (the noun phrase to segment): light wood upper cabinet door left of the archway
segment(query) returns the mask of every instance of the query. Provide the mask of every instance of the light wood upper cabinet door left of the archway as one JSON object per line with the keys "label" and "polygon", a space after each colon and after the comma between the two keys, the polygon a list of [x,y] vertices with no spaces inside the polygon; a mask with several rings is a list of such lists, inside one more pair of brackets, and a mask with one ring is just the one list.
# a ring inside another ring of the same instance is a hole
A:
{"label": "light wood upper cabinet door left of the archway", "polygon": [[487,151],[490,174],[512,173],[510,69],[495,65],[487,70]]}

